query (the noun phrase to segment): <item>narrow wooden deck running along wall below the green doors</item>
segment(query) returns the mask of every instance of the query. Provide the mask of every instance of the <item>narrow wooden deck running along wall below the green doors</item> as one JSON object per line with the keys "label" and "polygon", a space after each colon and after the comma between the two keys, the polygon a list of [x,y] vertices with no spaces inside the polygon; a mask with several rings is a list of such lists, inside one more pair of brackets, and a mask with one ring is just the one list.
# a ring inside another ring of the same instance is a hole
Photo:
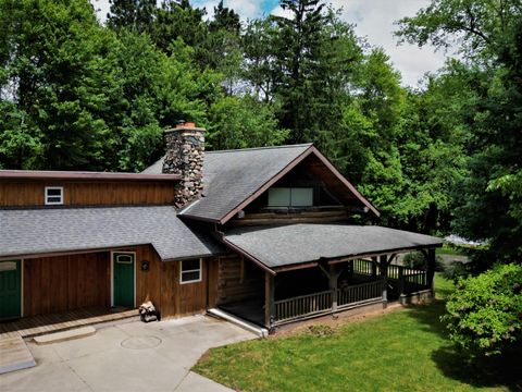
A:
{"label": "narrow wooden deck running along wall below the green doors", "polygon": [[111,309],[104,307],[33,316],[14,321],[0,321],[0,340],[16,336],[32,338],[77,327],[137,317],[138,311],[136,309]]}

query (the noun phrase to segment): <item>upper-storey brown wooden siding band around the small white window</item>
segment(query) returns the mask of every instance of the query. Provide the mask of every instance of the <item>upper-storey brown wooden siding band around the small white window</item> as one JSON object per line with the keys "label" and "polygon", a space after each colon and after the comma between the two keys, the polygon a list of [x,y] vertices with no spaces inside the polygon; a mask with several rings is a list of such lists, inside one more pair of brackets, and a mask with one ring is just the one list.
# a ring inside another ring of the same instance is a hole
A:
{"label": "upper-storey brown wooden siding band around the small white window", "polygon": [[63,186],[65,206],[160,205],[174,200],[174,182],[0,182],[0,207],[45,205],[46,186]]}

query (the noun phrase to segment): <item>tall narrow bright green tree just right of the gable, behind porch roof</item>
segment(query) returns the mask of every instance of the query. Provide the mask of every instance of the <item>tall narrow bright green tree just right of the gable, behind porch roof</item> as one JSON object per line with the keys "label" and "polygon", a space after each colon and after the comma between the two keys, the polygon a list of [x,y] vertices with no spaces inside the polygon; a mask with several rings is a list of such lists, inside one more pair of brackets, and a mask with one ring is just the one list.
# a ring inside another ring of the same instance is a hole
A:
{"label": "tall narrow bright green tree just right of the gable, behind porch roof", "polygon": [[[350,139],[360,139],[365,149],[350,151],[346,146],[346,155],[358,154],[363,159],[360,173],[361,189],[383,212],[383,218],[397,224],[397,203],[402,196],[405,177],[400,151],[398,149],[399,120],[405,106],[405,90],[400,87],[400,75],[389,64],[389,58],[382,49],[373,49],[358,70],[355,106],[365,118],[362,128],[347,130],[353,134]],[[361,168],[361,164],[358,164]],[[359,169],[360,170],[360,169]],[[357,181],[357,180],[356,180]]]}

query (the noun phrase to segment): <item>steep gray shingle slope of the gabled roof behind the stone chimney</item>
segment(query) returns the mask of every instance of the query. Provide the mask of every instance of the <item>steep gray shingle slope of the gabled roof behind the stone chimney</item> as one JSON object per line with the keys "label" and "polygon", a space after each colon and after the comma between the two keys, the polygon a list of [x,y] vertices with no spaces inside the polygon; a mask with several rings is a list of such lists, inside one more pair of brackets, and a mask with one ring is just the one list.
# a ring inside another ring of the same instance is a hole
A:
{"label": "steep gray shingle slope of the gabled roof behind the stone chimney", "polygon": [[[221,220],[310,147],[304,144],[206,152],[204,197],[181,213]],[[142,173],[161,173],[162,166],[159,160]]]}

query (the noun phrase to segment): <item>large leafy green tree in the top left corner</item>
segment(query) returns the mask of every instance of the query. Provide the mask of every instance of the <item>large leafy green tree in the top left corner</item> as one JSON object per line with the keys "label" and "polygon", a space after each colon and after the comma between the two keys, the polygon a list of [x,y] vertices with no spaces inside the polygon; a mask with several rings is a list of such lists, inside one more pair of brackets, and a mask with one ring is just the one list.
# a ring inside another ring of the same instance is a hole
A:
{"label": "large leafy green tree in the top left corner", "polygon": [[0,1],[0,88],[15,105],[8,117],[21,124],[11,120],[2,142],[39,155],[18,159],[22,167],[103,168],[110,132],[99,113],[113,78],[102,53],[111,42],[86,0]]}

